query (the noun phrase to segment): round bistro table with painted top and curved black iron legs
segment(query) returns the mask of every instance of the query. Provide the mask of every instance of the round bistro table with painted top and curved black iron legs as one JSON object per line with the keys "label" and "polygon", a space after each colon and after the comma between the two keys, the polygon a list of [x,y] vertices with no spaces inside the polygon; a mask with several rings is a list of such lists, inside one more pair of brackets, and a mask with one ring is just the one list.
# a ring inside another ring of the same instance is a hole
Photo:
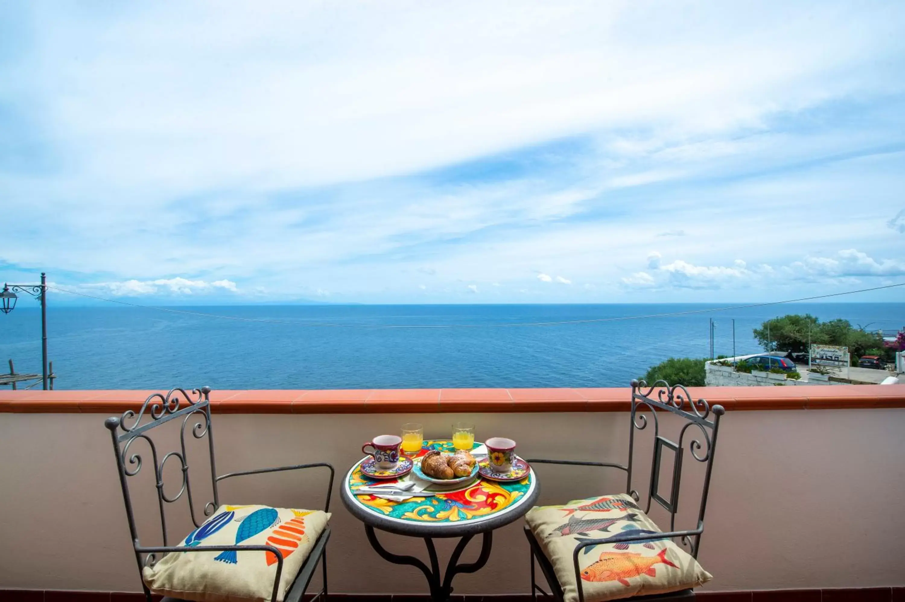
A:
{"label": "round bistro table with painted top and curved black iron legs", "polygon": [[[432,449],[447,453],[455,451],[452,441],[428,440],[414,457],[423,456]],[[415,493],[414,497],[404,502],[392,502],[372,495],[355,495],[353,492],[359,487],[395,483],[390,479],[376,481],[362,474],[360,465],[366,459],[358,461],[346,474],[341,489],[343,503],[353,516],[365,523],[367,540],[377,554],[395,564],[411,565],[420,569],[427,578],[431,598],[438,602],[449,599],[452,593],[452,578],[457,574],[473,573],[487,564],[491,556],[493,530],[518,520],[529,511],[538,498],[538,481],[533,470],[521,481],[510,483],[486,480],[479,474],[477,481],[459,490],[436,492],[435,495],[428,497],[417,497]],[[428,491],[436,490],[429,488]],[[403,556],[386,550],[377,540],[376,529],[423,538],[431,561],[430,568],[413,556]],[[479,533],[483,535],[481,555],[475,562],[459,564],[459,558],[465,547]],[[442,577],[433,539],[450,537],[461,539],[452,551],[445,576]]]}

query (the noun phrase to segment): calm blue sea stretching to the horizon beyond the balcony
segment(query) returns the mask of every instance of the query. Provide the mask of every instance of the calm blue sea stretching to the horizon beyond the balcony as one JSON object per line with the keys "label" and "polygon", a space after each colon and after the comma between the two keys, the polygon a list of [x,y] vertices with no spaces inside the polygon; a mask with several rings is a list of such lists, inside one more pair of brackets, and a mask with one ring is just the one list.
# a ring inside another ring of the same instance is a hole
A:
{"label": "calm blue sea stretching to the horizon beyond the balcony", "polygon": [[[57,388],[615,387],[663,359],[760,349],[763,320],[810,312],[870,329],[905,324],[905,303],[788,304],[690,316],[524,328],[395,329],[588,320],[705,309],[658,305],[356,305],[183,308],[262,323],[139,308],[48,310]],[[710,306],[716,307],[716,306]],[[356,327],[316,327],[329,322]],[[41,316],[0,315],[0,371],[41,372]]]}

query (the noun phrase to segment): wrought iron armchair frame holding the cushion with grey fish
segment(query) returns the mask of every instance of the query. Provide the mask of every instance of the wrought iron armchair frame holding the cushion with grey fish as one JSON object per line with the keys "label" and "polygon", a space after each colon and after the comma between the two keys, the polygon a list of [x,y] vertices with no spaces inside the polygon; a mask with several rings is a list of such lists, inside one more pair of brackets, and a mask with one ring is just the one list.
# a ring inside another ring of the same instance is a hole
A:
{"label": "wrought iron armchair frame holding the cushion with grey fish", "polygon": [[[644,390],[646,388],[646,390]],[[654,390],[656,390],[655,396]],[[642,407],[639,407],[642,406]],[[679,443],[674,443],[666,437],[660,435],[660,421],[657,418],[657,410],[670,412],[675,416],[679,416],[686,424],[681,426],[679,431]],[[700,536],[704,532],[704,511],[707,509],[707,497],[710,492],[710,473],[713,468],[713,457],[716,452],[717,433],[719,431],[719,418],[725,413],[723,406],[710,407],[707,401],[699,399],[694,401],[688,392],[688,389],[681,385],[670,387],[669,383],[664,380],[658,380],[651,387],[647,386],[643,380],[632,381],[632,414],[631,425],[629,426],[629,444],[628,444],[628,465],[607,462],[579,462],[572,460],[545,460],[533,459],[528,462],[534,464],[566,464],[571,466],[601,466],[604,468],[614,468],[626,473],[625,491],[631,495],[635,502],[641,500],[640,494],[632,488],[632,473],[634,468],[634,432],[641,431],[647,426],[647,416],[641,412],[650,411],[653,416],[653,458],[651,462],[651,482],[647,492],[647,507],[645,513],[651,511],[651,502],[655,500],[670,514],[670,530],[662,533],[646,534],[646,535],[624,535],[619,537],[609,537],[606,539],[582,540],[576,544],[576,548],[572,554],[572,563],[575,567],[575,577],[578,588],[579,602],[585,602],[585,594],[582,588],[582,579],[580,578],[580,569],[578,568],[578,555],[582,549],[588,546],[595,546],[601,543],[620,543],[620,542],[640,542],[645,540],[662,540],[670,538],[679,540],[681,546],[689,548],[689,553],[695,559],[698,558],[698,549],[700,547]],[[710,415],[713,415],[710,418]],[[682,452],[685,433],[689,426],[696,426],[703,435],[704,445],[697,438],[691,439],[689,450],[691,457],[700,462],[705,463],[703,491],[700,497],[700,507],[698,509],[697,527],[689,530],[675,530],[676,511],[679,507],[679,491],[681,483],[681,467]],[[668,493],[668,498],[662,496],[658,489],[660,482],[660,467],[662,465],[663,447],[671,449],[674,453],[672,461],[672,487]],[[704,450],[700,454],[700,450]],[[559,585],[553,564],[544,554],[544,550],[540,547],[540,543],[534,537],[529,527],[525,527],[525,536],[529,540],[531,549],[531,597],[533,600],[538,599],[538,592],[546,598],[552,597],[557,602],[563,602],[563,590]],[[540,588],[535,578],[535,560],[544,577],[547,578],[550,591],[547,592]],[[653,596],[633,597],[634,600],[676,600],[693,598],[694,593],[691,589],[683,589],[670,594],[659,594]]]}

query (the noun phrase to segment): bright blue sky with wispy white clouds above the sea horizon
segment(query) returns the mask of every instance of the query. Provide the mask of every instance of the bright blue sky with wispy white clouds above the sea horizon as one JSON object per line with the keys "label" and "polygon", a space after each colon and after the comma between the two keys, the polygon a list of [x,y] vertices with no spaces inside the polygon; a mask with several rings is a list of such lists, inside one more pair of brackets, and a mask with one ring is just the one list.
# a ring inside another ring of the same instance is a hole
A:
{"label": "bright blue sky with wispy white clouds above the sea horizon", "polygon": [[827,0],[5,2],[0,280],[150,304],[905,282],[903,24]]}

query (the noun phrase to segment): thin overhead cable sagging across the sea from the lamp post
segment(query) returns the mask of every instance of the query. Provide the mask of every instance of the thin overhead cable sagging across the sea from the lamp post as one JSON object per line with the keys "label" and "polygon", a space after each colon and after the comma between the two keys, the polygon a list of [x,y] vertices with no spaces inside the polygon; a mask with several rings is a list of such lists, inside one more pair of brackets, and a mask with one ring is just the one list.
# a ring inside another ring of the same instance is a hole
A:
{"label": "thin overhead cable sagging across the sea from the lamp post", "polygon": [[800,301],[815,301],[817,299],[828,299],[830,297],[841,297],[843,295],[852,295],[858,292],[881,291],[883,289],[892,289],[898,286],[905,286],[905,282],[898,284],[886,284],[884,286],[875,286],[870,289],[859,289],[857,291],[832,292],[825,295],[814,295],[811,297],[800,297],[798,299],[786,299],[784,301],[767,301],[763,303],[748,303],[745,305],[730,305],[727,307],[705,308],[701,310],[688,311],[670,311],[667,313],[650,313],[637,316],[620,316],[614,318],[590,318],[586,320],[557,320],[543,322],[515,322],[515,323],[492,323],[492,324],[341,324],[334,322],[300,322],[293,320],[271,320],[268,318],[243,318],[241,316],[224,316],[222,314],[205,313],[203,311],[174,310],[167,307],[155,307],[153,305],[140,305],[138,303],[130,303],[129,301],[119,301],[118,299],[107,299],[104,297],[96,297],[84,292],[68,291],[57,286],[47,285],[48,289],[54,291],[65,292],[71,295],[87,297],[97,301],[107,301],[109,303],[118,303],[119,305],[128,305],[129,307],[137,307],[143,310],[167,311],[168,313],[179,313],[189,316],[200,316],[204,318],[218,318],[220,320],[237,320],[243,322],[262,322],[265,324],[286,324],[290,326],[301,326],[307,328],[367,328],[367,329],[475,329],[475,328],[518,328],[526,326],[560,326],[566,324],[588,324],[595,322],[615,322],[624,320],[643,320],[647,318],[670,318],[675,316],[688,316],[698,313],[712,313],[716,311],[733,311],[747,310],[756,307],[767,307],[770,305],[781,305],[783,303],[796,303]]}

